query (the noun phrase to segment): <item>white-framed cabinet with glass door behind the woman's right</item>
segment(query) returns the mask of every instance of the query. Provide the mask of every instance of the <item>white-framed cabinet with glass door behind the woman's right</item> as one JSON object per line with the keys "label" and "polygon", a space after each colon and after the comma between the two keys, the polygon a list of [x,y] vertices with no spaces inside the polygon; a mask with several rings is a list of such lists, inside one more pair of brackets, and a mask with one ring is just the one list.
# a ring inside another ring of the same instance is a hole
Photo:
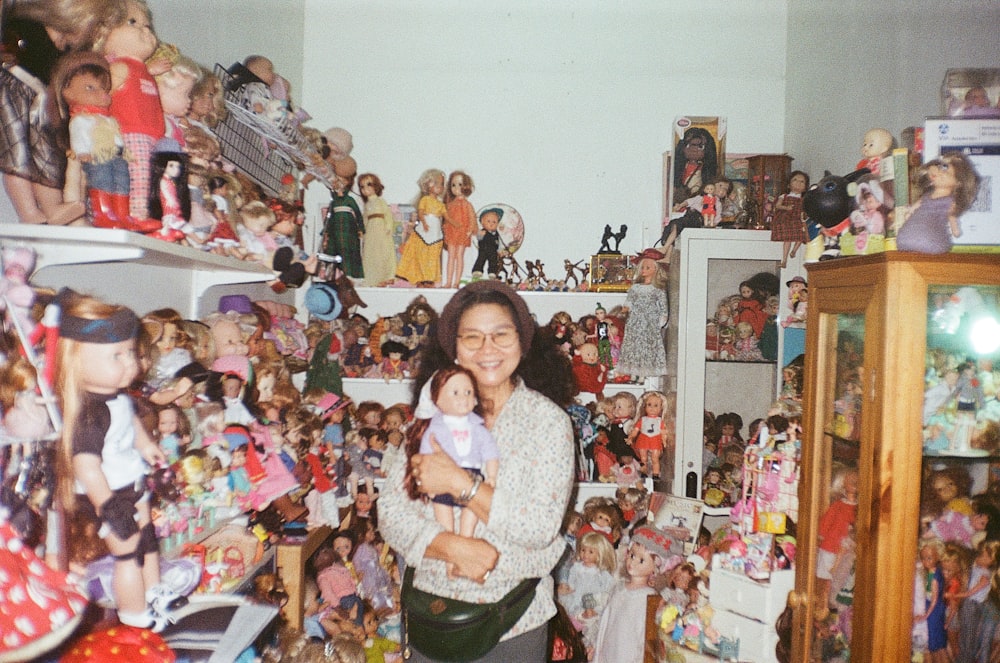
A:
{"label": "white-framed cabinet with glass door behind the woman's right", "polygon": [[[680,238],[677,319],[677,462],[674,492],[701,497],[704,411],[736,412],[746,426],[765,417],[778,393],[783,353],[778,325],[778,363],[709,361],[705,326],[718,303],[739,292],[739,284],[761,272],[774,274],[779,302],[786,301],[785,283],[801,270],[789,262],[781,270],[781,242],[758,230],[702,228],[685,230]],[[676,254],[675,254],[676,256]],[[801,259],[801,256],[800,256]],[[781,315],[779,314],[779,318]]]}

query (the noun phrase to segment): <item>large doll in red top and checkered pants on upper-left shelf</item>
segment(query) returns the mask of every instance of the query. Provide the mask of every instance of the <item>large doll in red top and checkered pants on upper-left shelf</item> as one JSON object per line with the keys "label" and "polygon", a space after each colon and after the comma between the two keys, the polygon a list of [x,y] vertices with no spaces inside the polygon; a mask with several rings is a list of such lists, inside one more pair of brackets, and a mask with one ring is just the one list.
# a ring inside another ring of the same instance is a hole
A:
{"label": "large doll in red top and checkered pants on upper-left shelf", "polygon": [[142,0],[127,0],[127,16],[111,28],[99,51],[111,63],[111,115],[118,120],[131,159],[129,210],[133,218],[149,218],[151,188],[149,164],[153,145],[164,135],[163,107],[153,75],[146,60],[156,50],[153,17]]}

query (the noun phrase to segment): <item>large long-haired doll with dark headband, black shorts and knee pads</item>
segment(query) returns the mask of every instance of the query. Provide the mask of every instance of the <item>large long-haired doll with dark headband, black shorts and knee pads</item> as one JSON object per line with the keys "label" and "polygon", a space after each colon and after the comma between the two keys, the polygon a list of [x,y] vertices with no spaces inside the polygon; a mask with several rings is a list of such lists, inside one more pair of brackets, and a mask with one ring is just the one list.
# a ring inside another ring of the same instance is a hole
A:
{"label": "large long-haired doll with dark headband, black shorts and knee pads", "polygon": [[59,494],[70,513],[86,514],[107,531],[119,620],[162,630],[171,607],[184,599],[160,584],[159,543],[149,504],[136,489],[149,467],[166,462],[123,392],[138,372],[139,320],[127,308],[68,290],[58,301]]}

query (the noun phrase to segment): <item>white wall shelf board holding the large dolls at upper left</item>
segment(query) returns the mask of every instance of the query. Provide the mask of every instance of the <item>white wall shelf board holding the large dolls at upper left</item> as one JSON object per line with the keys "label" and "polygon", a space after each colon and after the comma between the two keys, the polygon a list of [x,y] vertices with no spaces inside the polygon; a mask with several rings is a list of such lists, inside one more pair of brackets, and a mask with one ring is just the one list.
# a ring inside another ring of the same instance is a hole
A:
{"label": "white wall shelf board holding the large dolls at upper left", "polygon": [[[200,318],[214,310],[208,291],[240,286],[258,299],[274,272],[260,263],[218,256],[127,230],[0,224],[0,244],[29,246],[37,253],[32,285],[74,289],[137,311],[171,307]],[[256,286],[254,284],[257,284]]]}

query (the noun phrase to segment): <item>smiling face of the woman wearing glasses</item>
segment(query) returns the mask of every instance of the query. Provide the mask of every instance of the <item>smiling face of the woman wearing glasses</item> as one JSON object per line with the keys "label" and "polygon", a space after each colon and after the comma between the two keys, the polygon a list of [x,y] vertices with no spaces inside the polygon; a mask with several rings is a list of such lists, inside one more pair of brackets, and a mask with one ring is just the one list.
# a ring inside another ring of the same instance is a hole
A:
{"label": "smiling face of the woman wearing glasses", "polygon": [[[455,360],[459,366],[469,369],[476,378],[481,392],[488,392],[510,384],[511,376],[521,363],[521,340],[517,335],[517,325],[504,306],[500,304],[476,304],[462,314],[458,321],[458,336],[483,334],[486,338],[477,350],[471,350],[462,342],[455,344]],[[506,348],[493,340],[493,334],[514,333],[514,342]]]}

